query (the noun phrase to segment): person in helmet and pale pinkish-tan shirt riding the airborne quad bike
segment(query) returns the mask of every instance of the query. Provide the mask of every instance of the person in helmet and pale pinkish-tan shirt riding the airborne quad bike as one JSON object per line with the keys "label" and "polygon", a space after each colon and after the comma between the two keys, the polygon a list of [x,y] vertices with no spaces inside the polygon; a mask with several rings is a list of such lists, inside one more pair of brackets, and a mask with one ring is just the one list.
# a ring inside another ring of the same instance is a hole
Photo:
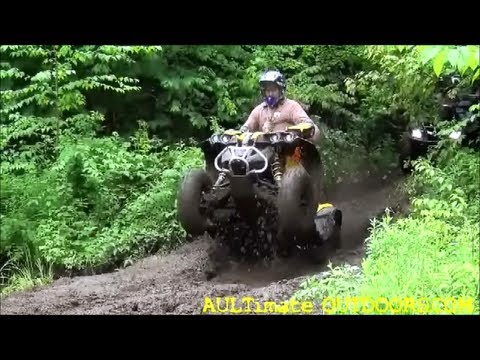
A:
{"label": "person in helmet and pale pinkish-tan shirt riding the airborne quad bike", "polygon": [[267,70],[259,82],[264,101],[252,110],[240,131],[285,131],[289,126],[307,123],[315,128],[310,140],[318,144],[320,129],[298,102],[285,96],[287,88],[285,77],[279,71]]}

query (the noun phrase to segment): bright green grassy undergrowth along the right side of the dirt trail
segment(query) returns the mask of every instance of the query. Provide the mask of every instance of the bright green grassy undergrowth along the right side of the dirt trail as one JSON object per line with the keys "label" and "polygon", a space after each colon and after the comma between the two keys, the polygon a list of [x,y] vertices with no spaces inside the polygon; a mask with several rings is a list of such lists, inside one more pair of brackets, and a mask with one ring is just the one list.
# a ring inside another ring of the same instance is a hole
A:
{"label": "bright green grassy undergrowth along the right side of the dirt trail", "polygon": [[451,147],[440,155],[417,162],[408,216],[372,221],[361,271],[331,267],[294,297],[328,314],[478,314],[480,158]]}

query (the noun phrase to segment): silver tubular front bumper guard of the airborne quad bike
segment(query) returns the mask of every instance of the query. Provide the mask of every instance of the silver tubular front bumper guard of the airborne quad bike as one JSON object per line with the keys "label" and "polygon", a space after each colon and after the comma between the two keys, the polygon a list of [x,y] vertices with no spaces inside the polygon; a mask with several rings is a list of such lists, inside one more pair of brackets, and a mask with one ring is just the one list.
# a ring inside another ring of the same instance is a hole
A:
{"label": "silver tubular front bumper guard of the airborne quad bike", "polygon": [[[219,164],[219,160],[227,151],[230,152],[231,157],[228,160],[228,168],[224,168]],[[247,160],[247,157],[249,155],[254,155],[254,153],[258,154],[264,162],[264,165],[261,169],[250,169],[250,164]],[[253,146],[227,146],[217,155],[214,164],[215,168],[220,171],[220,173],[246,176],[251,173],[263,173],[265,170],[267,170],[268,160],[260,150]]]}

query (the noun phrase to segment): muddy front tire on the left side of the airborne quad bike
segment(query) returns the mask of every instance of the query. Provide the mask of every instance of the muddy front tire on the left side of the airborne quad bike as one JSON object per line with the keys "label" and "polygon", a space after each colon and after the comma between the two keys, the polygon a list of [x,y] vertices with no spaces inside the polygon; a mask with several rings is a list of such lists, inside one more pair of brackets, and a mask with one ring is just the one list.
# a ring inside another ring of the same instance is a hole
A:
{"label": "muddy front tire on the left side of the airborne quad bike", "polygon": [[182,181],[177,196],[177,213],[183,229],[192,236],[207,229],[207,218],[200,210],[202,193],[212,188],[212,180],[203,169],[190,170]]}

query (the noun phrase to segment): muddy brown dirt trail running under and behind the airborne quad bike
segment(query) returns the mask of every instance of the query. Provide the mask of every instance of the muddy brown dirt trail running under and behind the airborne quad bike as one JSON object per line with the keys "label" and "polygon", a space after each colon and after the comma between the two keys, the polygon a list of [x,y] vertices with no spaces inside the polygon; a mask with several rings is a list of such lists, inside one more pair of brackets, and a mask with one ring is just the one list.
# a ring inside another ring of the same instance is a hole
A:
{"label": "muddy brown dirt trail running under and behind the airborne quad bike", "polygon": [[[369,219],[399,204],[395,190],[401,181],[397,172],[387,172],[357,183],[339,184],[330,191],[329,198],[343,211],[344,219],[342,250],[332,256],[334,264],[360,264]],[[2,299],[0,313],[200,314],[206,296],[288,300],[305,276],[325,269],[291,259],[272,266],[259,264],[253,269],[231,268],[207,281],[203,273],[207,247],[207,240],[198,240],[114,273],[62,278]]]}

